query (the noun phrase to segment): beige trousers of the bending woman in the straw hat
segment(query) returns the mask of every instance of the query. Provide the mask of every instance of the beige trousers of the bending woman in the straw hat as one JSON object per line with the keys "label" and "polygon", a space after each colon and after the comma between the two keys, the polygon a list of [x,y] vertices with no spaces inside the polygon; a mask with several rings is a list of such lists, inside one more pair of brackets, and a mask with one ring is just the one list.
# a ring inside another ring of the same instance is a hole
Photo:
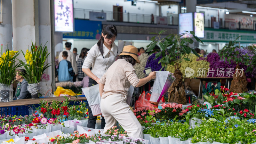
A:
{"label": "beige trousers of the bending woman in the straw hat", "polygon": [[125,100],[126,97],[122,94],[113,94],[101,99],[100,108],[106,121],[103,132],[116,126],[118,121],[128,136],[142,139],[142,127]]}

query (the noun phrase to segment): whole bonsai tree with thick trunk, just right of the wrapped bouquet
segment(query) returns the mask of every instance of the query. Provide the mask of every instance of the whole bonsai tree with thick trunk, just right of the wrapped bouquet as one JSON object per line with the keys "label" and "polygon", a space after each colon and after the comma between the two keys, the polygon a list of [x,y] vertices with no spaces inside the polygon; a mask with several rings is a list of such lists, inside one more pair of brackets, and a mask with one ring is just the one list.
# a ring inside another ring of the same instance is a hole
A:
{"label": "whole bonsai tree with thick trunk, just right of the wrapped bouquet", "polygon": [[[181,36],[185,34],[171,34],[168,35],[164,38],[161,38],[161,35],[165,31],[160,31],[157,33],[152,33],[155,34],[156,36],[153,36],[151,38],[151,43],[147,46],[147,52],[156,53],[156,58],[157,59],[159,56],[162,56],[162,58],[159,60],[158,63],[161,63],[162,68],[166,70],[167,65],[171,65],[172,67],[175,68],[174,71],[174,76],[176,77],[175,81],[169,88],[169,95],[168,95],[168,102],[177,102],[181,104],[187,104],[186,100],[186,94],[185,94],[185,87],[182,82],[182,73],[180,72],[180,67],[181,67],[181,61],[183,59],[188,60],[188,54],[190,52],[193,52],[196,56],[199,57],[197,52],[189,47],[189,44],[193,44],[194,41],[192,39],[192,36],[196,39],[196,41],[199,41],[203,44],[203,42],[195,35],[195,32],[190,31],[189,32],[189,37],[187,38],[181,38]],[[187,31],[188,32],[188,31]],[[153,50],[156,44],[159,45],[160,50]],[[186,55],[187,54],[187,55]]]}

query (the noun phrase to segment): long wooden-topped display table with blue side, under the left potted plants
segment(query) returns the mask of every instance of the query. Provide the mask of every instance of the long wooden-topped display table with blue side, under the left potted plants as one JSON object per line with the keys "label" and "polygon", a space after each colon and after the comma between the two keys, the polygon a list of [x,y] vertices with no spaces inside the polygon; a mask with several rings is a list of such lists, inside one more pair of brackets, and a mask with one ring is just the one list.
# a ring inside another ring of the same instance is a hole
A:
{"label": "long wooden-topped display table with blue side, under the left potted plants", "polygon": [[[65,101],[65,97],[49,97],[49,98],[40,98],[40,99],[22,99],[22,100],[13,100],[12,102],[0,102],[0,116],[1,115],[29,115],[28,109],[32,107],[39,107],[40,100],[45,100],[52,102],[52,100]],[[69,97],[69,105],[79,104],[81,101],[87,102],[85,97]]]}

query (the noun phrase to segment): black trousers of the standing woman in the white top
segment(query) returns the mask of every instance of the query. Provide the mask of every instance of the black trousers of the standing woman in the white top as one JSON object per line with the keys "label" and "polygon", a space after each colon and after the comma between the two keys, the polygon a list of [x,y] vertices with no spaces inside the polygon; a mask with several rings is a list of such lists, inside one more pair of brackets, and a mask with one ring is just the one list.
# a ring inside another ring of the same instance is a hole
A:
{"label": "black trousers of the standing woman in the white top", "polygon": [[[89,87],[92,86],[92,85],[96,85],[96,84],[97,84],[97,82],[95,80],[93,80],[92,78],[89,78],[89,85],[88,85]],[[88,118],[87,127],[95,129],[97,116],[92,115],[92,109],[90,108],[89,105],[88,105],[88,115],[89,115],[89,118]],[[101,129],[104,129],[105,125],[106,125],[106,122],[105,122],[104,117],[102,116],[102,118],[101,118]]]}

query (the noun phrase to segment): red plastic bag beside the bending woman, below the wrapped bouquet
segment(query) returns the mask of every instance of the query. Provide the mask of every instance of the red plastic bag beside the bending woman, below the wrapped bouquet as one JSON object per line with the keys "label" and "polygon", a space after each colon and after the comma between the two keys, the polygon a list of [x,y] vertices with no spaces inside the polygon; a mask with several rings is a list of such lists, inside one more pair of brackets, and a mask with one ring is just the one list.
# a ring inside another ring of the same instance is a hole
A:
{"label": "red plastic bag beside the bending woman, below the wrapped bouquet", "polygon": [[[150,93],[147,94],[146,97],[151,97]],[[145,99],[145,92],[142,92],[139,99],[135,102],[135,109],[136,108],[146,108],[146,107],[157,107],[154,104],[151,104],[149,100]]]}

